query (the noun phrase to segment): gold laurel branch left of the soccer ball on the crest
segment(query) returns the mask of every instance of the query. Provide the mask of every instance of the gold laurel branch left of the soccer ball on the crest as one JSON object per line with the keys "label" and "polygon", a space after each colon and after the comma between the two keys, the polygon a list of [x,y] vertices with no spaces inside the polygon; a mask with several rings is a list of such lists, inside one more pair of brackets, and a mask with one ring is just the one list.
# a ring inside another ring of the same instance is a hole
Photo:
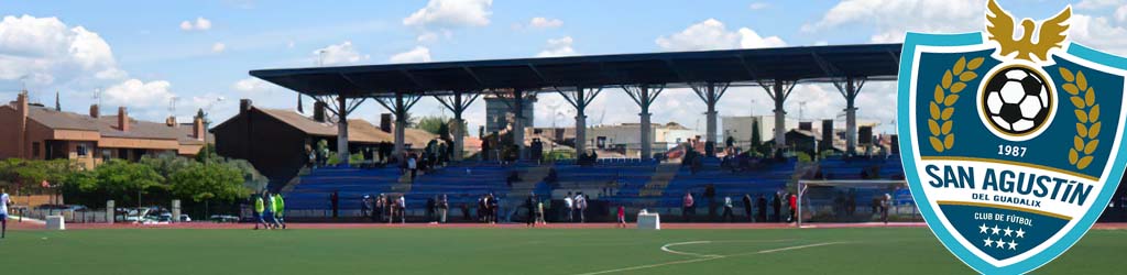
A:
{"label": "gold laurel branch left of the soccer ball on the crest", "polygon": [[977,57],[967,62],[966,56],[959,57],[959,61],[943,73],[943,80],[935,85],[935,97],[929,106],[931,118],[928,119],[928,130],[931,132],[928,140],[935,152],[943,152],[955,147],[955,133],[951,132],[955,127],[955,122],[951,121],[951,116],[955,115],[955,103],[959,100],[959,92],[967,88],[967,82],[978,78],[975,70],[982,66],[984,60]]}

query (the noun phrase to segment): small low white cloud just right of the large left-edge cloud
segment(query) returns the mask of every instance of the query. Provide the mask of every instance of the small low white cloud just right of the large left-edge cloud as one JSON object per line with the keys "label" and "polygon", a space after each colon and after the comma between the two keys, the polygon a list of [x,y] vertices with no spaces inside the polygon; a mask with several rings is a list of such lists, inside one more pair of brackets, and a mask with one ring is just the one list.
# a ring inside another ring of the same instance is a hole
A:
{"label": "small low white cloud just right of the large left-edge cloud", "polygon": [[142,108],[163,106],[176,96],[169,90],[171,86],[165,80],[144,82],[139,79],[128,79],[106,89],[103,92],[103,98],[107,104],[118,106]]}

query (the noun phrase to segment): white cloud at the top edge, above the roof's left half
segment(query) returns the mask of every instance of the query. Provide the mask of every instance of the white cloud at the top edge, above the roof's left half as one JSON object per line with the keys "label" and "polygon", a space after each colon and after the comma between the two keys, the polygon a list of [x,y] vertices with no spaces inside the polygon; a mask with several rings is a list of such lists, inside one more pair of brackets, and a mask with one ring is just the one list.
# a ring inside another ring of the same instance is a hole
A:
{"label": "white cloud at the top edge, above the roof's left half", "polygon": [[489,25],[492,0],[431,0],[426,7],[403,18],[403,25],[416,27],[462,27]]}

